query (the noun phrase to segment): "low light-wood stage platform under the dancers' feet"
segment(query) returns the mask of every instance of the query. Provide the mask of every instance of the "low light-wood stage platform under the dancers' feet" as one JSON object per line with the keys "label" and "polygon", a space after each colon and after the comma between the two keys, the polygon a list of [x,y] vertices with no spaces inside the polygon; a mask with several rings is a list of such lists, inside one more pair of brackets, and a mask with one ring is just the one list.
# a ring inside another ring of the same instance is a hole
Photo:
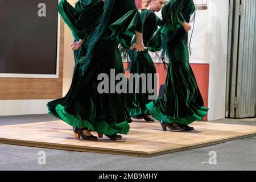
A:
{"label": "low light-wood stage platform under the dancers' feet", "polygon": [[133,122],[130,126],[129,135],[122,135],[122,140],[104,137],[94,142],[75,139],[72,127],[63,121],[0,126],[0,143],[151,157],[256,135],[256,126],[209,122],[195,122],[191,125],[195,127],[195,131],[179,133],[162,131],[157,121]]}

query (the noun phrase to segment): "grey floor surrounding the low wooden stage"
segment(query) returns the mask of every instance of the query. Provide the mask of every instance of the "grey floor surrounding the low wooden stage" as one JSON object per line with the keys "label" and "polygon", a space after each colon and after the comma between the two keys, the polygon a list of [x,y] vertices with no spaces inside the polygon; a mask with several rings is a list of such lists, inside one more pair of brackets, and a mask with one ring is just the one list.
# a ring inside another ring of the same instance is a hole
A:
{"label": "grey floor surrounding the low wooden stage", "polygon": [[[55,121],[47,114],[0,117],[0,125]],[[212,121],[213,122],[213,121]],[[256,126],[253,119],[221,119],[216,123]],[[15,132],[15,131],[14,131]],[[40,152],[46,154],[46,164]],[[216,164],[209,164],[209,152],[216,152]],[[0,170],[255,170],[256,137],[213,146],[175,152],[152,158],[51,150],[0,144]]]}

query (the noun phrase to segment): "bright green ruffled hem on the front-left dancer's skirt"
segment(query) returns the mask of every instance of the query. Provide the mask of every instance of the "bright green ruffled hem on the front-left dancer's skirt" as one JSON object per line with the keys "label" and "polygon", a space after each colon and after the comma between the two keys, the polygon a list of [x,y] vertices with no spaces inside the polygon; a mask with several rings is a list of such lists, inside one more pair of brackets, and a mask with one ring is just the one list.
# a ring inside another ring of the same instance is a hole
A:
{"label": "bright green ruffled hem on the front-left dancer's skirt", "polygon": [[74,115],[69,114],[60,104],[56,106],[55,110],[57,114],[59,114],[59,117],[53,114],[48,107],[49,114],[53,115],[53,117],[63,120],[64,122],[68,123],[68,125],[73,127],[87,127],[90,131],[96,131],[97,133],[102,133],[104,135],[113,135],[118,133],[127,135],[130,130],[130,125],[127,121],[113,125],[106,123],[104,120],[90,122],[86,119],[77,118]]}

